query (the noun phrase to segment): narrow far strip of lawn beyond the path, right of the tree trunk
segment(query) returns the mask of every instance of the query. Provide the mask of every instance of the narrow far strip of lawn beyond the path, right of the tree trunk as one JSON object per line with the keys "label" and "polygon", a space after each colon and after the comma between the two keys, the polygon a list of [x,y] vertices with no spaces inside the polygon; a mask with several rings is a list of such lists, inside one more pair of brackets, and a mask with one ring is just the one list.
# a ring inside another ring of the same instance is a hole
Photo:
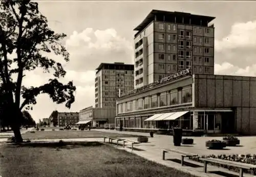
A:
{"label": "narrow far strip of lawn beyond the path, right of the tree trunk", "polygon": [[22,135],[23,139],[40,140],[40,139],[67,139],[67,138],[102,138],[103,136],[110,137],[138,137],[136,135],[125,135],[112,132],[103,132],[95,130],[69,130],[69,131],[35,131],[32,134],[30,131]]}

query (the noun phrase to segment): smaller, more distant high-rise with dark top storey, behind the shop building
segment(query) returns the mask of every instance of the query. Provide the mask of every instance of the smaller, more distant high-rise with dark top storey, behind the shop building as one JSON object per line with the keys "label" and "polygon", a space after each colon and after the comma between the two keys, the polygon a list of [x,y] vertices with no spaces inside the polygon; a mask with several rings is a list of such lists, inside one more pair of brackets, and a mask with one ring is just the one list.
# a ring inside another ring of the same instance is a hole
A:
{"label": "smaller, more distant high-rise with dark top storey, behind the shop building", "polygon": [[101,63],[96,69],[95,107],[116,107],[120,94],[134,90],[134,65]]}

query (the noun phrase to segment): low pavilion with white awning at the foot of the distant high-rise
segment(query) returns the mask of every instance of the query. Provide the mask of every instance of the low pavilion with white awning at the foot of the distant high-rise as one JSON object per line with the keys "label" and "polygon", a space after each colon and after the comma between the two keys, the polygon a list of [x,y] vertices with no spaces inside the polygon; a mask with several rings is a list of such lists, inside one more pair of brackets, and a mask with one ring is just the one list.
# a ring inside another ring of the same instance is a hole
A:
{"label": "low pavilion with white awning at the foot of the distant high-rise", "polygon": [[115,107],[86,107],[79,112],[79,122],[82,126],[104,127],[106,123],[115,123]]}

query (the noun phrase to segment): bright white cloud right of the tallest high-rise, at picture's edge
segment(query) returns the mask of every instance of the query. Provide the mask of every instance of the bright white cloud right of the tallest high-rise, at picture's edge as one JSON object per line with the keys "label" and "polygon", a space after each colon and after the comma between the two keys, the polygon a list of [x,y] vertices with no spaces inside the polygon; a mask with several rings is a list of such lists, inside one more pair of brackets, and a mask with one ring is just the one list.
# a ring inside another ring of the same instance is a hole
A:
{"label": "bright white cloud right of the tallest high-rise, at picture's edge", "polygon": [[255,49],[256,20],[235,23],[227,36],[215,40],[215,62],[228,62],[246,71],[248,66],[256,63]]}

